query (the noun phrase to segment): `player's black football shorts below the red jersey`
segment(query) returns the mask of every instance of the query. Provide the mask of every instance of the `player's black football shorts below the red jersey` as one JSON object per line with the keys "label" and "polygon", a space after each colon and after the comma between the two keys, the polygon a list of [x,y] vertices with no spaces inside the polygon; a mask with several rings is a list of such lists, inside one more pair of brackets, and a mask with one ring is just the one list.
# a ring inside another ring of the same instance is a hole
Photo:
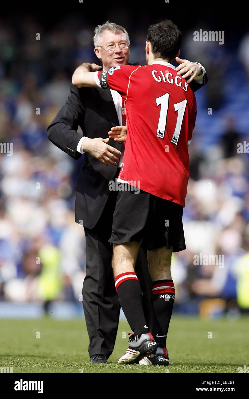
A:
{"label": "player's black football shorts below the red jersey", "polygon": [[137,241],[149,251],[161,247],[182,251],[186,249],[182,212],[181,205],[145,191],[119,191],[109,242]]}

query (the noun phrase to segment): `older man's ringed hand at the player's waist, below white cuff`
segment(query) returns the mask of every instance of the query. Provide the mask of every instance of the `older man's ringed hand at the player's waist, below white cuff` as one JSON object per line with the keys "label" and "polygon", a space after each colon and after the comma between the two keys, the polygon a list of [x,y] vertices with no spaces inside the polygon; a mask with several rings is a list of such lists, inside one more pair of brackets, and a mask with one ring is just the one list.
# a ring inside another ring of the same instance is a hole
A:
{"label": "older man's ringed hand at the player's waist, below white cuff", "polygon": [[[83,151],[88,152],[94,158],[98,159],[102,164],[108,166],[108,164],[116,166],[119,162],[119,158],[116,155],[122,153],[116,148],[109,146],[107,143],[109,138],[86,138],[82,143]],[[114,155],[115,154],[115,155]]]}

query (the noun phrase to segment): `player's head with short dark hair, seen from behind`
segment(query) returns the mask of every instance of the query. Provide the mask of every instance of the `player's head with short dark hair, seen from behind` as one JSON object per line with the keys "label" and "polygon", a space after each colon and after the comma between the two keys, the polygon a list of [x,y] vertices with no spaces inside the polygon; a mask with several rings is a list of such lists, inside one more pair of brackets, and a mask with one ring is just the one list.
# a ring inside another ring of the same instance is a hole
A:
{"label": "player's head with short dark hair, seen from behind", "polygon": [[172,21],[165,20],[149,26],[146,40],[155,57],[172,61],[182,45],[182,32]]}

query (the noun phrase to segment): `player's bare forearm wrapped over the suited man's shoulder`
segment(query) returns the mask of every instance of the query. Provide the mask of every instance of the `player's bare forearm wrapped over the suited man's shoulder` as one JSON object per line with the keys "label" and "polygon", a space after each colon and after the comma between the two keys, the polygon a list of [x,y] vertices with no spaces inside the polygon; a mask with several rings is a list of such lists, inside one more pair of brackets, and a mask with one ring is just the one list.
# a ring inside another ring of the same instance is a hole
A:
{"label": "player's bare forearm wrapped over the suited man's shoulder", "polygon": [[[97,87],[93,74],[89,72],[95,72],[100,69],[100,65],[90,64],[89,62],[85,62],[75,69],[72,76],[72,83],[76,87]],[[90,86],[89,86],[90,85]]]}

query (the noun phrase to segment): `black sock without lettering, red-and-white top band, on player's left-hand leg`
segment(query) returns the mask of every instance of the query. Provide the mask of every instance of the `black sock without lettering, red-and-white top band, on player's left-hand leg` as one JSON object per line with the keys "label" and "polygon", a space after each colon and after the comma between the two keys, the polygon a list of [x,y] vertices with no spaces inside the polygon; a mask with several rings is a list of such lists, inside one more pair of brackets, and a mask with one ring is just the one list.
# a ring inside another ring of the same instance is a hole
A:
{"label": "black sock without lettering, red-and-white top band, on player's left-hand leg", "polygon": [[134,272],[121,273],[115,279],[119,303],[135,336],[147,333],[143,313],[142,292],[139,280]]}

